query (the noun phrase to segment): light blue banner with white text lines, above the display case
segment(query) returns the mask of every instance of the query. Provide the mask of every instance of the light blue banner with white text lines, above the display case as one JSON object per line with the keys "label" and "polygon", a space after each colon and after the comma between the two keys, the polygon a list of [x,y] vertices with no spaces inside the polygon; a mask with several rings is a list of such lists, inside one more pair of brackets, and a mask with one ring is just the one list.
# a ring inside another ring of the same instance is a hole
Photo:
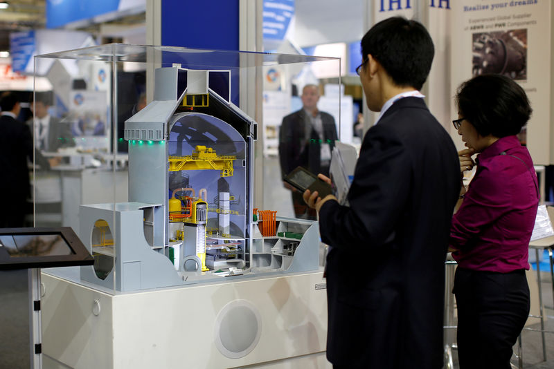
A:
{"label": "light blue banner with white text lines, above the display case", "polygon": [[264,0],[264,39],[282,41],[294,15],[294,0]]}

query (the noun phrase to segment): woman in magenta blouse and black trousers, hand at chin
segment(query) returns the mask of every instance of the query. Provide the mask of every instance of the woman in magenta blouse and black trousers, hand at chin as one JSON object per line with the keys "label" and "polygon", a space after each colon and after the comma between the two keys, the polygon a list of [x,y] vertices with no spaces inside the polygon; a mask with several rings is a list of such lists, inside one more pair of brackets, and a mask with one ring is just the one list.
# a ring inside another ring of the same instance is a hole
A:
{"label": "woman in magenta blouse and black trousers, hand at chin", "polygon": [[523,88],[502,75],[464,82],[456,104],[454,127],[467,146],[458,153],[461,173],[477,167],[450,229],[458,359],[462,369],[509,369],[530,307],[525,269],[539,190],[516,135],[532,109]]}

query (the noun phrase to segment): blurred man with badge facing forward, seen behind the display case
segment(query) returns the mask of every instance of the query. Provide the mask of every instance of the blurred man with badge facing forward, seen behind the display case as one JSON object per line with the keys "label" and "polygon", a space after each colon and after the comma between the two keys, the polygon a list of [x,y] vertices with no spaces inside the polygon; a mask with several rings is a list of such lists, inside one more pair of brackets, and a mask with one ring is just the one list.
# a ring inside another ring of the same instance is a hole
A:
{"label": "blurred man with badge facing forward, seen behind the display case", "polygon": [[[319,88],[307,84],[302,90],[303,107],[283,118],[279,129],[279,160],[281,176],[285,178],[294,168],[301,166],[312,173],[329,175],[331,150],[337,140],[337,126],[332,115],[319,111]],[[316,219],[313,209],[308,209],[297,191],[287,182],[283,185],[292,191],[292,203],[296,218]]]}

